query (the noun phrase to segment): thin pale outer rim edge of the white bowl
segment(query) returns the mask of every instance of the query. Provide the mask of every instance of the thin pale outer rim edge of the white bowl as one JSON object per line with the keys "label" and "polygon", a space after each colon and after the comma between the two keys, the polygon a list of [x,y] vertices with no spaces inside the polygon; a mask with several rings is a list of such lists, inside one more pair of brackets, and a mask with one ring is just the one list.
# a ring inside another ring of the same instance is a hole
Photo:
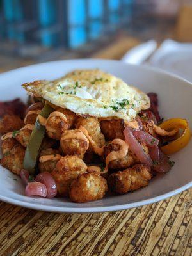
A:
{"label": "thin pale outer rim edge of the white bowl", "polygon": [[[165,70],[161,70],[160,68],[157,67],[150,67],[149,65],[134,65],[134,64],[129,64],[129,63],[125,63],[124,61],[121,60],[108,60],[108,59],[96,59],[96,58],[85,58],[85,59],[70,59],[70,60],[56,60],[56,61],[46,61],[43,63],[36,63],[36,64],[32,64],[32,65],[28,65],[25,67],[20,67],[20,68],[15,68],[13,70],[8,70],[6,72],[2,72],[0,73],[0,78],[1,76],[6,76],[8,74],[11,74],[12,72],[17,72],[20,70],[25,70],[26,68],[33,68],[33,67],[38,67],[41,65],[46,65],[48,64],[52,64],[54,65],[54,63],[59,63],[59,62],[72,62],[72,61],[84,61],[84,62],[90,62],[90,61],[104,61],[106,63],[121,63],[124,65],[127,65],[129,67],[138,67],[141,68],[143,70],[148,70],[149,72],[155,72],[161,75],[166,75],[168,77],[170,77],[170,79],[177,79],[178,81],[182,81],[185,82],[186,84],[188,84],[189,86],[192,86],[192,83],[178,75],[172,74],[171,72],[165,71]],[[1,86],[0,86],[1,88]],[[192,90],[192,88],[191,88]],[[35,204],[35,203],[31,203],[31,202],[25,202],[22,200],[18,200],[18,199],[14,199],[14,198],[10,198],[9,196],[3,196],[0,195],[0,200],[3,202],[6,202],[8,204],[13,204],[13,205],[18,205],[20,207],[26,207],[29,209],[35,209],[35,210],[40,210],[40,211],[48,211],[48,212],[60,212],[60,213],[93,213],[93,212],[107,212],[107,211],[119,211],[119,210],[124,210],[124,209],[131,209],[134,207],[140,207],[143,205],[147,205],[147,204],[153,204],[156,202],[159,202],[160,200],[164,200],[166,198],[169,198],[170,196],[173,195],[177,195],[179,193],[181,193],[182,191],[189,189],[192,187],[192,181],[184,184],[184,186],[181,186],[177,189],[174,189],[172,191],[169,191],[167,193],[164,193],[162,195],[158,195],[158,196],[154,196],[152,198],[148,198],[146,200],[139,200],[137,202],[131,202],[128,204],[121,204],[121,205],[111,205],[111,206],[99,206],[99,207],[59,207],[59,206],[55,206],[55,205],[43,205],[43,204]],[[79,205],[79,204],[78,204]]]}

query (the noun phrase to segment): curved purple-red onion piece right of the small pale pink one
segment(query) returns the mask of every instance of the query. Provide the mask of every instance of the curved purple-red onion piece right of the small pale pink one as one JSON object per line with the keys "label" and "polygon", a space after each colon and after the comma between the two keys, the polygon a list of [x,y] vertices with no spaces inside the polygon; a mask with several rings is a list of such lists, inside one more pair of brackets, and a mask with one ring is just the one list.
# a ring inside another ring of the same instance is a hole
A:
{"label": "curved purple-red onion piece right of the small pale pink one", "polygon": [[44,173],[39,173],[35,180],[37,182],[42,182],[46,188],[47,188],[47,198],[53,198],[56,196],[57,189],[56,189],[56,182],[54,181],[51,173],[49,172],[44,172]]}

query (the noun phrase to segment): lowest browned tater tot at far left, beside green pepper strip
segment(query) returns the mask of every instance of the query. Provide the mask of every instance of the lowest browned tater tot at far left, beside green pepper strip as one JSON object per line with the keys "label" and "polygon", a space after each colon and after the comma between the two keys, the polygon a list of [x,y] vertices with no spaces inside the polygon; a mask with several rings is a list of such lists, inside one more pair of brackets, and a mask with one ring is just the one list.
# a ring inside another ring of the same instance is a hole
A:
{"label": "lowest browned tater tot at far left, beside green pepper strip", "polygon": [[23,169],[23,161],[25,156],[25,148],[18,144],[4,155],[1,159],[1,165],[11,172],[19,175],[20,170]]}

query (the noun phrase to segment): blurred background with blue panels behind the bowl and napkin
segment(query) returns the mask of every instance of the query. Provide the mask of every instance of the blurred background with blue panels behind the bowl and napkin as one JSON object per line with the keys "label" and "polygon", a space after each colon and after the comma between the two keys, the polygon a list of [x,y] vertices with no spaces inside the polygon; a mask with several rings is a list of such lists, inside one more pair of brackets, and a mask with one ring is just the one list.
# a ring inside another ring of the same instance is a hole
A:
{"label": "blurred background with blue panels behind the bowl and napkin", "polygon": [[120,59],[154,39],[192,41],[192,1],[0,0],[0,71],[68,58]]}

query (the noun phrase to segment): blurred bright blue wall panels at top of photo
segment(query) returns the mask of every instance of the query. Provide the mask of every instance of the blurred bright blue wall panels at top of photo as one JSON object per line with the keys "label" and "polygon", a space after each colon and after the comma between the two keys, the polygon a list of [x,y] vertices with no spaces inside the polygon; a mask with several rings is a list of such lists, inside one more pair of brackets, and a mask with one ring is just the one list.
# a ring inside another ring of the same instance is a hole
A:
{"label": "blurred bright blue wall panels at top of photo", "polygon": [[[20,0],[0,0],[3,1],[3,12],[6,25],[6,38],[17,42],[25,41],[25,34],[15,29],[15,24],[19,24],[24,20],[24,6]],[[36,41],[45,47],[59,45],[59,33],[63,30],[54,31],[54,26],[58,24],[57,15],[57,0],[26,0],[32,10],[35,6],[35,17],[38,23],[38,36]],[[104,20],[106,13],[104,10],[104,0],[63,0],[67,4],[67,27],[63,25],[63,29],[67,31],[68,45],[71,48],[76,48],[79,45],[86,43],[88,40],[97,39],[104,33]],[[123,8],[125,19],[129,20],[131,15],[131,4],[133,0],[108,0],[108,22],[110,27],[116,28],[120,22],[119,8],[124,4]],[[86,6],[86,3],[88,4]],[[29,8],[29,10],[30,10]],[[64,14],[63,10],[63,15]],[[26,14],[26,13],[25,13]],[[26,16],[26,15],[25,15]],[[26,18],[27,19],[27,18]],[[108,26],[108,24],[106,25]],[[34,32],[34,31],[33,31]]]}

